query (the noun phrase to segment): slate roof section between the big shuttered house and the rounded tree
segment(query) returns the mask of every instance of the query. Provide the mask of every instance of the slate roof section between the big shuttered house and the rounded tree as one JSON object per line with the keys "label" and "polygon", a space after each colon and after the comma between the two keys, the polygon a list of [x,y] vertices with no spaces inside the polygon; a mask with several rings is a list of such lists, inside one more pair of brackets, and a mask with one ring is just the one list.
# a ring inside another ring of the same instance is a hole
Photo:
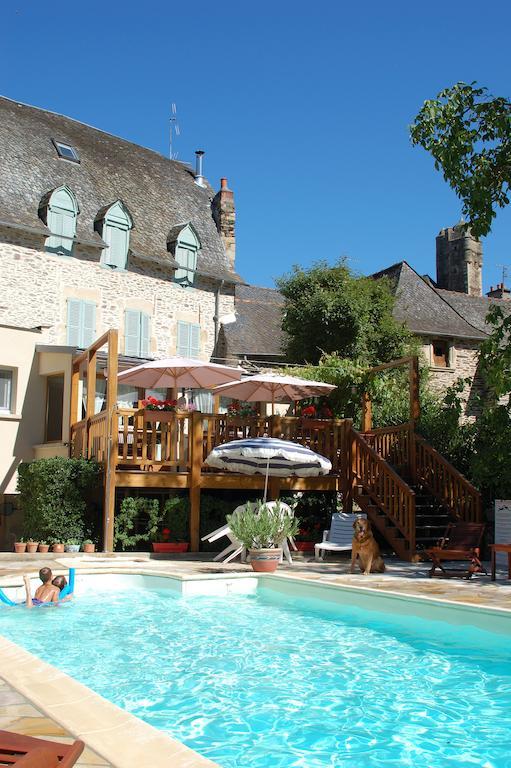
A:
{"label": "slate roof section between the big shuttered house and the rounded tree", "polygon": [[273,288],[237,285],[236,322],[223,327],[228,356],[284,358],[284,297]]}

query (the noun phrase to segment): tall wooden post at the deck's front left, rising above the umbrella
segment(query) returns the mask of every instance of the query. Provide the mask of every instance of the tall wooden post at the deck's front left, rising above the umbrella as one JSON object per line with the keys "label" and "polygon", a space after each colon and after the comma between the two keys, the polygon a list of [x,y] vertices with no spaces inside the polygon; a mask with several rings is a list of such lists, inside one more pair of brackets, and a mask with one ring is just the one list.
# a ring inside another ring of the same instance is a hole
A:
{"label": "tall wooden post at the deck's front left, rising above the umbrella", "polygon": [[[108,358],[106,382],[106,465],[105,495],[103,502],[103,551],[114,549],[115,518],[115,470],[117,467],[117,445],[119,428],[117,423],[117,374],[119,372],[119,334],[117,330],[108,331]],[[94,376],[94,382],[96,377]],[[94,386],[94,397],[96,387]],[[87,409],[89,404],[89,382],[87,381]]]}

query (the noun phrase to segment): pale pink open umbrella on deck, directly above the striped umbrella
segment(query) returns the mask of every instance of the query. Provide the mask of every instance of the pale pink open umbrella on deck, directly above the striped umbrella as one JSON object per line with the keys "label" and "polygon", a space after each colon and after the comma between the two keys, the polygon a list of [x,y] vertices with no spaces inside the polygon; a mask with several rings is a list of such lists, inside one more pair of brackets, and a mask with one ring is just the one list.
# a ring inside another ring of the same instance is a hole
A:
{"label": "pale pink open umbrella on deck, directly above the striped umbrella", "polygon": [[281,376],[274,373],[259,373],[241,381],[222,384],[215,388],[215,395],[235,397],[247,402],[271,403],[271,412],[275,403],[303,400],[304,397],[328,395],[336,387],[324,381],[309,381],[296,376]]}

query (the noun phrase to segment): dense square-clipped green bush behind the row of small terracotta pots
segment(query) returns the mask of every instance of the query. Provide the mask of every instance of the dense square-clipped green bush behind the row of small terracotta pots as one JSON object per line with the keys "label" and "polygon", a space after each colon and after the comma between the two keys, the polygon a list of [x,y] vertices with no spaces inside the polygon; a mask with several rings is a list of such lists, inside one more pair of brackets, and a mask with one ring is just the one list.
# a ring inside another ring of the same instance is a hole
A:
{"label": "dense square-clipped green bush behind the row of small terracotta pots", "polygon": [[87,497],[97,486],[100,469],[92,459],[62,456],[22,463],[18,491],[24,535],[59,543],[81,540]]}

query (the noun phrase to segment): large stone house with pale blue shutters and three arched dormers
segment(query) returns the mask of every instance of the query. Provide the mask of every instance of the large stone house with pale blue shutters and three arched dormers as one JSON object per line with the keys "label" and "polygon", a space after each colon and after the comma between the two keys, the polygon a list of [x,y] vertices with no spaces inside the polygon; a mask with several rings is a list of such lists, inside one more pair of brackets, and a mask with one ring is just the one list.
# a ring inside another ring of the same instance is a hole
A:
{"label": "large stone house with pale blue shutters and three arched dormers", "polygon": [[[72,354],[210,359],[234,312],[233,193],[61,115],[0,98],[0,502],[22,460],[67,455]],[[101,404],[101,376],[97,397]],[[136,394],[126,391],[126,400]],[[99,405],[100,405],[99,404]],[[0,520],[1,529],[1,520]],[[1,532],[1,531],[0,531]]]}

